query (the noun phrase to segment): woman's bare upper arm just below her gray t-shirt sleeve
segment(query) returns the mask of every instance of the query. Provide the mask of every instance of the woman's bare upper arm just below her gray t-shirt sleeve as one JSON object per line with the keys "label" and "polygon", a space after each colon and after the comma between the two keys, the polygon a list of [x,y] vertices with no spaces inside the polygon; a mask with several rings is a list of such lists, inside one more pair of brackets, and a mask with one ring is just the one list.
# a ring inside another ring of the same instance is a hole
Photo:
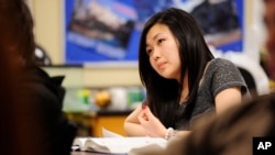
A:
{"label": "woman's bare upper arm just below her gray t-shirt sleeve", "polygon": [[220,114],[232,106],[242,102],[242,92],[240,87],[231,87],[219,92],[216,98],[216,113]]}

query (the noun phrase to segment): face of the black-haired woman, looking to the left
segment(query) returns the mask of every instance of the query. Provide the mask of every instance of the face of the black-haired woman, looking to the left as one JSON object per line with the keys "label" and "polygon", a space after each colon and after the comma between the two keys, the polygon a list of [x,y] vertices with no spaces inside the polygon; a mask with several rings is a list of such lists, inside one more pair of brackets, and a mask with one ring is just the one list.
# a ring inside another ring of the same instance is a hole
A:
{"label": "face of the black-haired woman, looking to the left", "polygon": [[179,80],[178,44],[167,25],[157,23],[150,29],[146,35],[146,53],[156,73],[164,78]]}

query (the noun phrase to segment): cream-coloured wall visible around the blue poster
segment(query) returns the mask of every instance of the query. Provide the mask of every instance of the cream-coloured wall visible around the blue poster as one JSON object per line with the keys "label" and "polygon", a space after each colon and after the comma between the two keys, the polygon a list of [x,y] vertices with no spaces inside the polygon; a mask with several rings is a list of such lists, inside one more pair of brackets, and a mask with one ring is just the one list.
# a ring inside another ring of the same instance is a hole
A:
{"label": "cream-coloured wall visible around the blue poster", "polygon": [[[245,1],[245,25],[253,23],[253,1]],[[35,37],[50,54],[54,64],[63,64],[63,0],[32,0],[35,20]],[[85,67],[85,69],[68,70],[67,68],[46,68],[50,74],[66,74],[67,86],[84,85],[89,87],[141,85],[138,65],[130,67]],[[78,74],[78,76],[76,76]],[[75,76],[72,76],[75,75]]]}

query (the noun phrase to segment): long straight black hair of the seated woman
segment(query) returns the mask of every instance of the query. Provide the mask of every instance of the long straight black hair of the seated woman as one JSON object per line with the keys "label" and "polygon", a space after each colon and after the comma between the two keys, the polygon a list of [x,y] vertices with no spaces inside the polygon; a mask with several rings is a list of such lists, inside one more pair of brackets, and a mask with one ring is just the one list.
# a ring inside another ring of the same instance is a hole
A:
{"label": "long straight black hair of the seated woman", "polygon": [[[179,45],[180,82],[160,76],[151,66],[145,51],[146,34],[156,24],[165,24]],[[154,14],[144,25],[139,47],[140,78],[146,88],[146,102],[152,112],[168,128],[174,126],[176,110],[179,106],[185,74],[188,73],[189,95],[185,111],[188,121],[195,106],[199,81],[205,67],[213,58],[204,34],[195,19],[182,9],[169,8]]]}

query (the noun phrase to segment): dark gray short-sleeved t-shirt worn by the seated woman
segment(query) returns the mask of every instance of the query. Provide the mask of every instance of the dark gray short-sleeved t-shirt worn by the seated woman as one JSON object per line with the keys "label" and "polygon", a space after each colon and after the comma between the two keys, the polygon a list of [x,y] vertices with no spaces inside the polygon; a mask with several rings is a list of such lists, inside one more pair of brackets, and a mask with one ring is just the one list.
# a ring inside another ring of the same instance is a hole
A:
{"label": "dark gray short-sleeved t-shirt worn by the seated woman", "polygon": [[212,59],[198,89],[197,100],[189,124],[183,121],[183,113],[186,107],[186,104],[183,103],[179,109],[177,109],[174,128],[177,130],[188,130],[193,121],[200,118],[204,113],[215,110],[215,97],[220,91],[235,86],[241,87],[243,95],[246,93],[246,84],[237,66],[227,59]]}

